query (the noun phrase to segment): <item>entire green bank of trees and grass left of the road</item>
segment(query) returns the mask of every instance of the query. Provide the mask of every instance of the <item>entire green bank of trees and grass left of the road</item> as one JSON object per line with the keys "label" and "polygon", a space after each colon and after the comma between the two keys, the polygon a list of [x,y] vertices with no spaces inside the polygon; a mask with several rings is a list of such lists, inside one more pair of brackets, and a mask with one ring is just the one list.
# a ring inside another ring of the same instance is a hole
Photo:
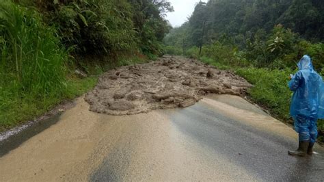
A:
{"label": "entire green bank of trees and grass left of the road", "polygon": [[0,0],[0,131],[92,88],[96,77],[76,69],[161,55],[172,10],[165,0]]}

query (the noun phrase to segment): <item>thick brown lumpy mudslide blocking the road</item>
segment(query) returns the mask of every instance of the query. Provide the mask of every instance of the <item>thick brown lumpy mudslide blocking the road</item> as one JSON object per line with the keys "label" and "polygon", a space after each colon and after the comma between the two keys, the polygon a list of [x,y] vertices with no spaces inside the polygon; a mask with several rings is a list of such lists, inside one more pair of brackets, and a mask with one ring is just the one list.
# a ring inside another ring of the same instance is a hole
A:
{"label": "thick brown lumpy mudslide blocking the road", "polygon": [[92,112],[126,115],[194,105],[208,93],[243,95],[252,87],[228,70],[198,60],[163,56],[146,64],[122,66],[99,78],[85,96]]}

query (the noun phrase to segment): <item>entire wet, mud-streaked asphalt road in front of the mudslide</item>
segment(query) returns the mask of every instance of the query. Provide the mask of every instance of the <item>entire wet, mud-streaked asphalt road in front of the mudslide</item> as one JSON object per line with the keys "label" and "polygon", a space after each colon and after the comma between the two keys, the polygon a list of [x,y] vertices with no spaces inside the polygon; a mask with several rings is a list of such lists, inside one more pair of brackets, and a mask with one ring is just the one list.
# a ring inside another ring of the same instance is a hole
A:
{"label": "entire wet, mud-streaked asphalt road in front of the mudslide", "polygon": [[237,96],[134,116],[76,102],[55,125],[0,148],[0,181],[324,180],[321,146],[312,157],[287,155],[295,131]]}

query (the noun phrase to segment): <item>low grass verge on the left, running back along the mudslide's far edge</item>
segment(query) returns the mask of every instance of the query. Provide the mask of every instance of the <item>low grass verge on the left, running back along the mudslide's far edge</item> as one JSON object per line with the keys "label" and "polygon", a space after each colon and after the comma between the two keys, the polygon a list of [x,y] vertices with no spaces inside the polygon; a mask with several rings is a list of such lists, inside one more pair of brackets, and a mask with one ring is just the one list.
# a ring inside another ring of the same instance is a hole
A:
{"label": "low grass verge on the left, running back along the mudslide's far edge", "polygon": [[[87,58],[87,59],[90,59]],[[42,116],[49,112],[53,107],[66,100],[75,99],[77,96],[92,90],[98,81],[98,77],[105,71],[131,64],[140,64],[148,62],[146,57],[141,56],[122,56],[115,61],[103,62],[94,58],[92,62],[85,60],[81,66],[89,77],[79,78],[72,70],[80,66],[68,66],[66,73],[66,86],[62,90],[56,90],[51,94],[42,94],[34,92],[21,92],[13,94],[10,87],[1,88],[0,92],[0,132],[12,129],[28,120]],[[12,84],[11,84],[12,85]]]}

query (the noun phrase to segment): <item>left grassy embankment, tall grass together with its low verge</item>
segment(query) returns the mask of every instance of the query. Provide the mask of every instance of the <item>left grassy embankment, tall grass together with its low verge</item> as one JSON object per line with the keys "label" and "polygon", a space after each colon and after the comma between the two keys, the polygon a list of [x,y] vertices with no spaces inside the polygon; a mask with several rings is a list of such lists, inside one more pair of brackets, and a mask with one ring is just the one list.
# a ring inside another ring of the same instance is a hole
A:
{"label": "left grassy embankment, tall grass together with its low verge", "polygon": [[112,66],[143,61],[132,56],[114,58],[115,64],[87,61],[81,67],[92,76],[81,79],[74,73],[81,62],[76,66],[57,29],[41,17],[36,10],[0,2],[0,132],[87,92],[98,75]]}

